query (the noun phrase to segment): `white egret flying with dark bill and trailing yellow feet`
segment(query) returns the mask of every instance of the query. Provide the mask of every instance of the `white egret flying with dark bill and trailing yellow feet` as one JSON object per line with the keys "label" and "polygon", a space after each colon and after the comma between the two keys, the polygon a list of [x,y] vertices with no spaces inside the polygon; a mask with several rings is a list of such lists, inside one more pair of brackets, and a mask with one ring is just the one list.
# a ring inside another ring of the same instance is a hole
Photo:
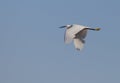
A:
{"label": "white egret flying with dark bill and trailing yellow feet", "polygon": [[100,30],[100,28],[90,28],[90,27],[78,25],[78,24],[61,26],[59,28],[66,28],[64,41],[66,44],[69,44],[73,40],[75,48],[77,50],[81,50],[83,48],[85,43],[84,38],[86,37],[88,30],[94,30],[94,31]]}

